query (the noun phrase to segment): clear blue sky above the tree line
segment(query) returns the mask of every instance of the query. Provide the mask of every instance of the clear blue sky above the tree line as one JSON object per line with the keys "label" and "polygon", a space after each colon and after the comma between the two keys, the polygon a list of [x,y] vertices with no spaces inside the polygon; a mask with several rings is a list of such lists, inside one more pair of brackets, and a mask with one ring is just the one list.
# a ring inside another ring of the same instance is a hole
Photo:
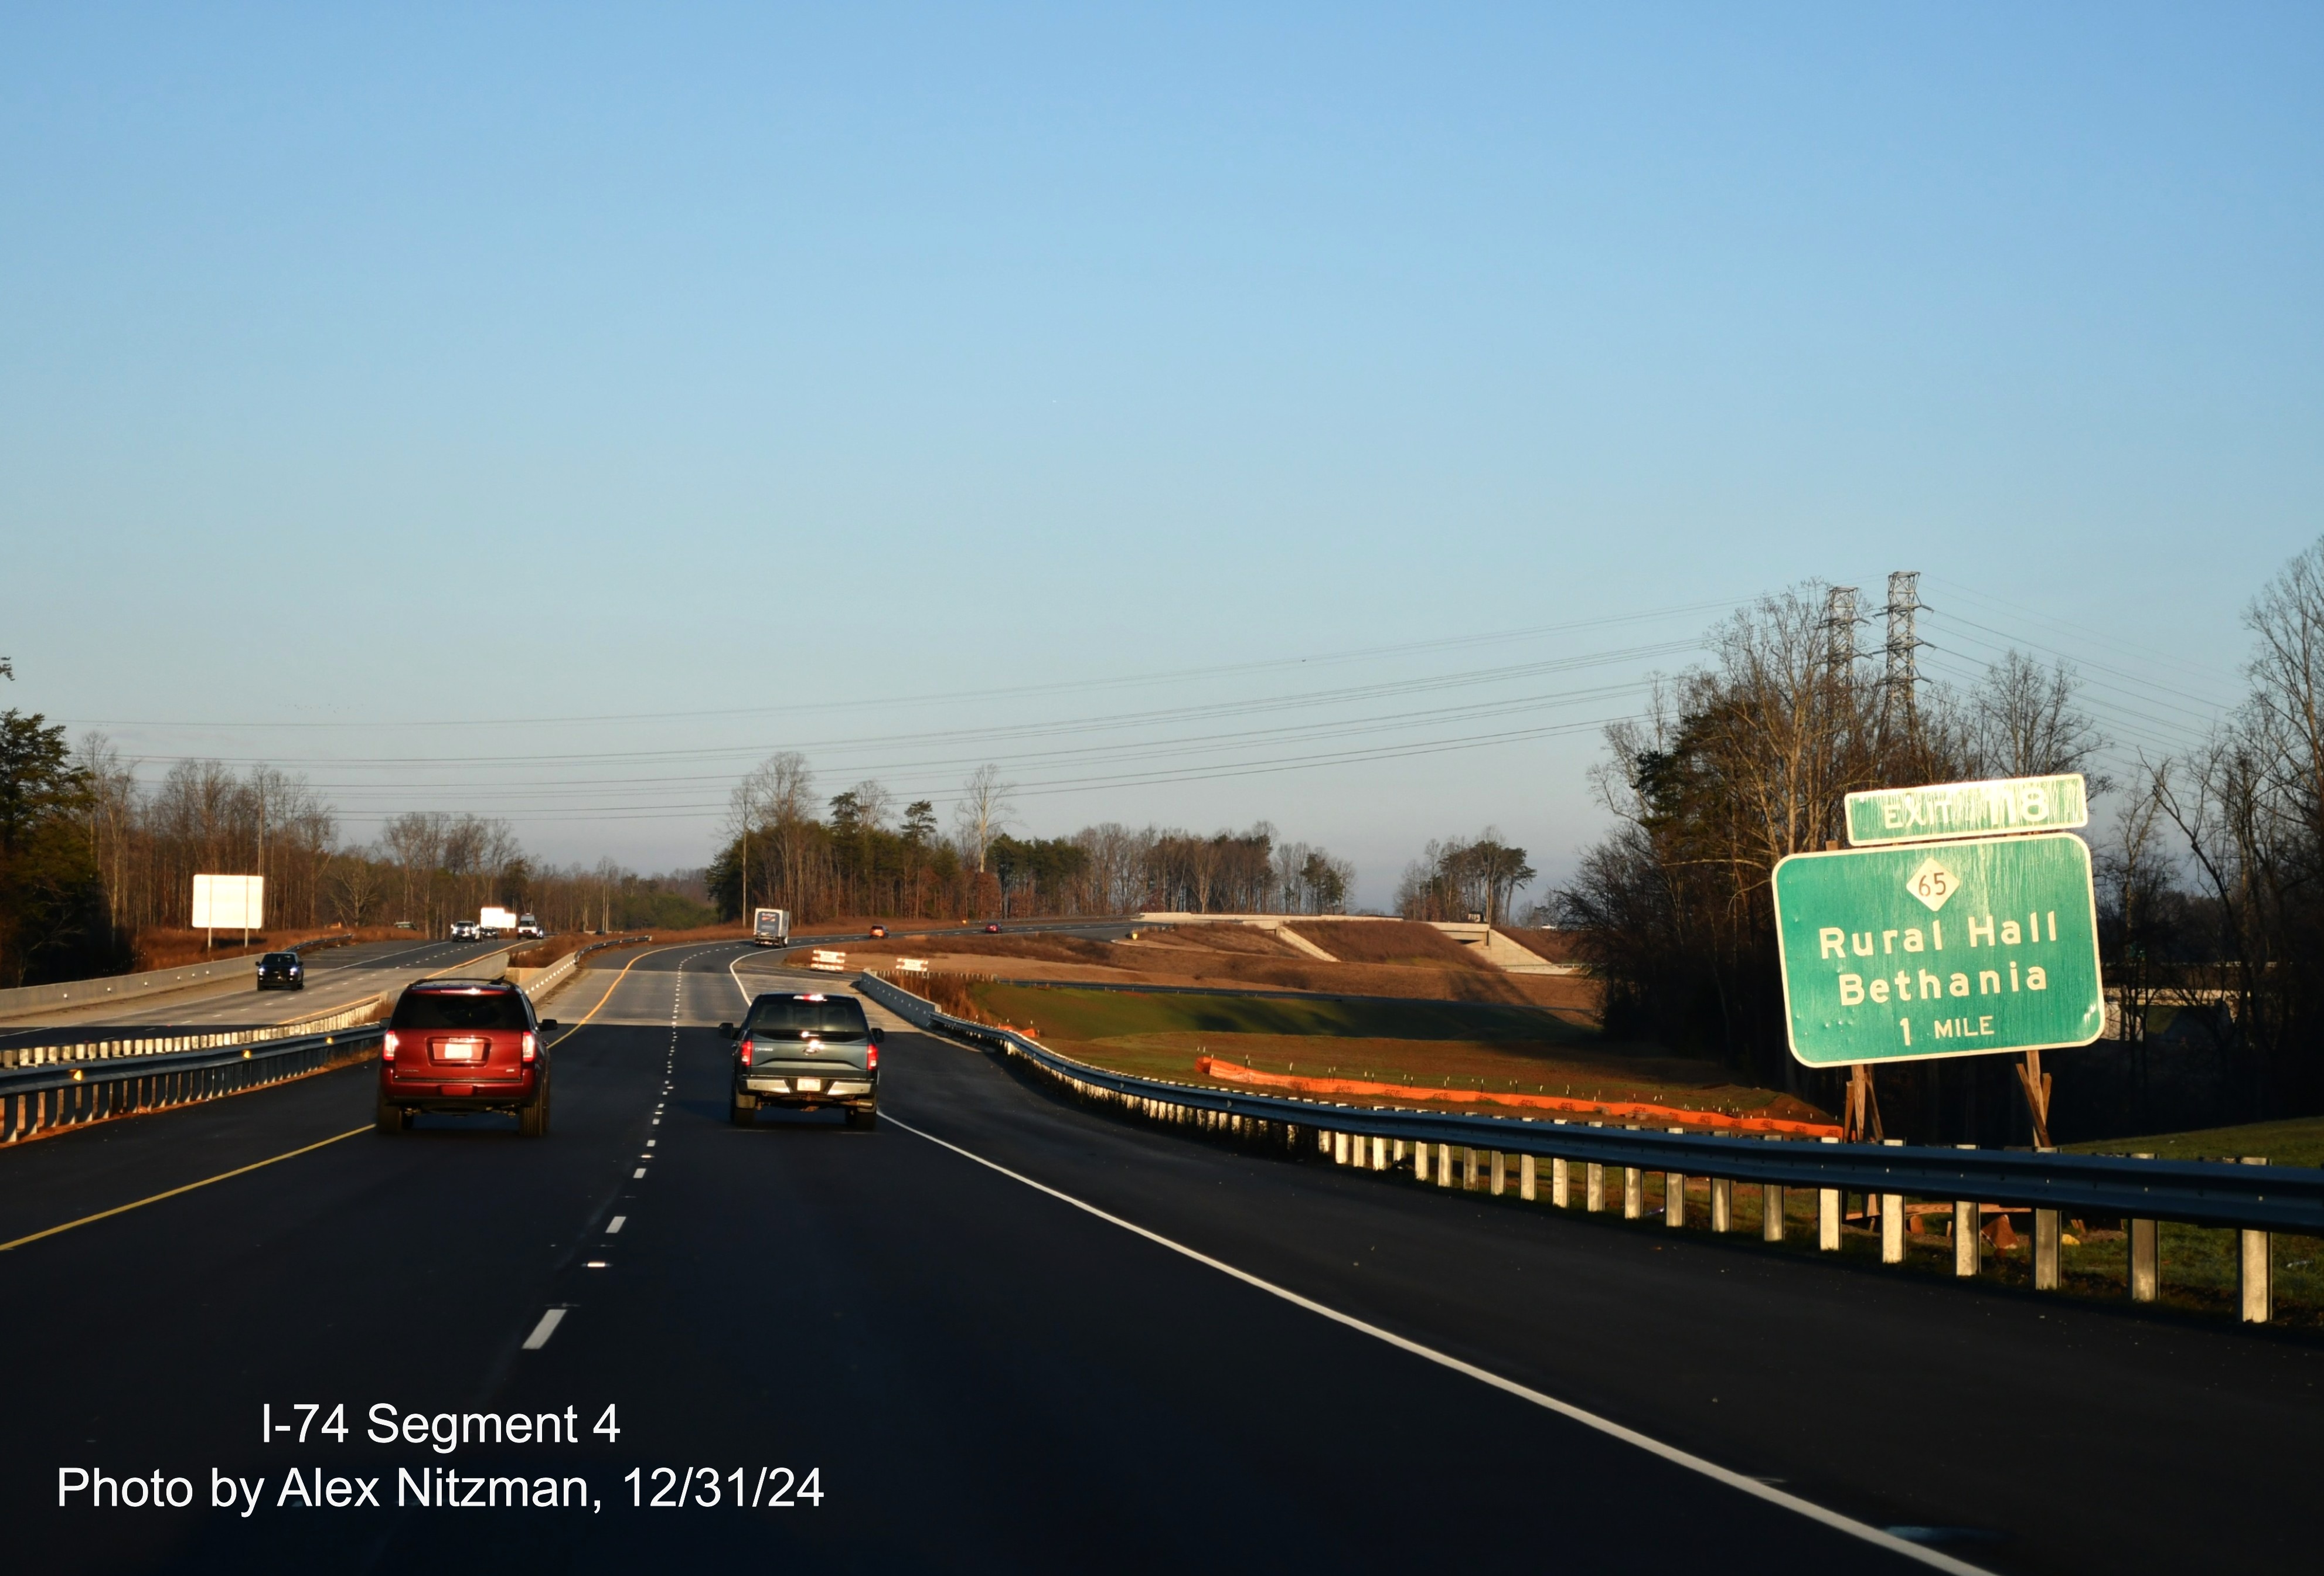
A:
{"label": "clear blue sky above the tree line", "polygon": [[997,758],[1027,830],[1269,818],[1380,902],[1485,823],[1564,867],[1720,604],[1922,569],[1934,669],[2068,653],[2161,748],[2324,528],[2319,42],[9,7],[5,700],[646,867],[769,748]]}

